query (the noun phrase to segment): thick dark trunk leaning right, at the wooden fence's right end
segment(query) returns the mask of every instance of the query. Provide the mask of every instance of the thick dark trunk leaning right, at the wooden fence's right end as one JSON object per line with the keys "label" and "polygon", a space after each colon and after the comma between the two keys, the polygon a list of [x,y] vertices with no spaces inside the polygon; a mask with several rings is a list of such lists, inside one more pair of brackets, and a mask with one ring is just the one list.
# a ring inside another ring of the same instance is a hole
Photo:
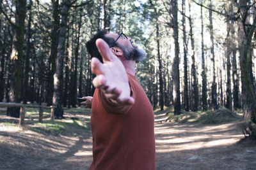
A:
{"label": "thick dark trunk leaning right, at the wooden fence's right end", "polygon": [[65,52],[65,39],[67,32],[67,17],[70,3],[69,0],[63,0],[61,10],[61,25],[60,25],[60,36],[58,42],[58,53],[56,63],[56,74],[54,74],[54,94],[52,103],[56,106],[54,110],[54,117],[63,118],[63,108],[61,103],[61,93],[63,92],[63,57]]}

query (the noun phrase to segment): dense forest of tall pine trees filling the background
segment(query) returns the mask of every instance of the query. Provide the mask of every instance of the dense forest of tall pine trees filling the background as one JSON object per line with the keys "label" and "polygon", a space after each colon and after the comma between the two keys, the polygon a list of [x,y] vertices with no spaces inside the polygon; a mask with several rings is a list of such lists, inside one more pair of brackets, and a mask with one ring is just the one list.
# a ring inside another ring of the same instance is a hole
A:
{"label": "dense forest of tall pine trees filling the background", "polygon": [[94,91],[85,43],[106,29],[147,52],[136,78],[154,108],[243,109],[256,123],[255,0],[0,4],[0,102],[54,105],[59,117],[76,108],[77,97]]}

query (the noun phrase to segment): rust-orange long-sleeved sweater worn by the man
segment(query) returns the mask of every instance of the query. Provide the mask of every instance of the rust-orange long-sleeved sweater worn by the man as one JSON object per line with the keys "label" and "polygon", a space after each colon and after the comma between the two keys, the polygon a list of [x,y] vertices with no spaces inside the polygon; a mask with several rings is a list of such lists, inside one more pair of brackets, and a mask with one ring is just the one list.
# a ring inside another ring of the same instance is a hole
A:
{"label": "rust-orange long-sleeved sweater worn by the man", "polygon": [[92,103],[93,162],[91,170],[156,169],[154,113],[143,88],[127,74],[135,104],[119,107],[99,89]]}

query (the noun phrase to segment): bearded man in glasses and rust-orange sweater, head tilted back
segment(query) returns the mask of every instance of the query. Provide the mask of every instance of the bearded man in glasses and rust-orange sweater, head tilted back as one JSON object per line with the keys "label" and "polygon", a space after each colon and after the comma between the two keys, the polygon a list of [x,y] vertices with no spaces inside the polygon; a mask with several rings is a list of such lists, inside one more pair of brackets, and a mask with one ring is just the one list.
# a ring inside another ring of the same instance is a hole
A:
{"label": "bearded man in glasses and rust-orange sweater, head tilted back", "polygon": [[135,64],[146,53],[134,47],[123,33],[106,31],[95,34],[86,48],[96,74],[90,169],[156,169],[154,113],[134,77]]}

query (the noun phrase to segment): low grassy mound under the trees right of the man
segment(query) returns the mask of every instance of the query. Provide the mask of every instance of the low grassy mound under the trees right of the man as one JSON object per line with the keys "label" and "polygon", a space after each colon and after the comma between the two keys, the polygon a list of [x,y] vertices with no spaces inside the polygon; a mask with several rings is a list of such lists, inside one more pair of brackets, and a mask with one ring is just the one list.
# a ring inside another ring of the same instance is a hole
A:
{"label": "low grassy mound under the trees right of the man", "polygon": [[240,111],[233,112],[226,108],[214,111],[181,111],[180,115],[174,115],[173,110],[169,110],[166,114],[168,121],[179,123],[221,124],[242,120]]}

